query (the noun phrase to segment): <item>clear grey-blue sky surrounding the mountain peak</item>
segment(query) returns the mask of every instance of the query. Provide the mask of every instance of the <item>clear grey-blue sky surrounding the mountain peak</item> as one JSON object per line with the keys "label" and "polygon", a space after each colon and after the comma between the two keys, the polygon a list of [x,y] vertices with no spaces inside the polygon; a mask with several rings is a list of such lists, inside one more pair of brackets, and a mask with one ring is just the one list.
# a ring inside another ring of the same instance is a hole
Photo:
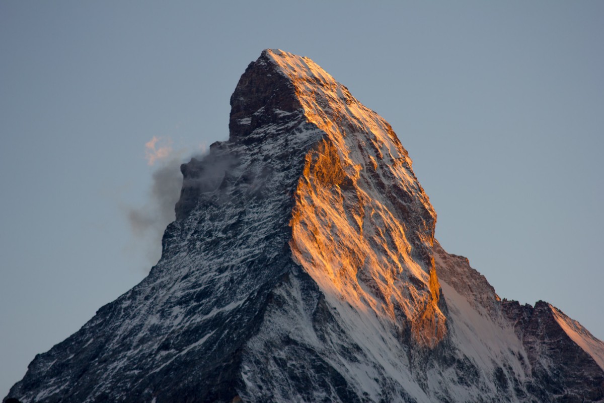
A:
{"label": "clear grey-blue sky surrounding the mountain peak", "polygon": [[604,2],[283,3],[0,2],[0,397],[146,276],[145,144],[225,140],[264,48],[391,123],[447,251],[604,338]]}

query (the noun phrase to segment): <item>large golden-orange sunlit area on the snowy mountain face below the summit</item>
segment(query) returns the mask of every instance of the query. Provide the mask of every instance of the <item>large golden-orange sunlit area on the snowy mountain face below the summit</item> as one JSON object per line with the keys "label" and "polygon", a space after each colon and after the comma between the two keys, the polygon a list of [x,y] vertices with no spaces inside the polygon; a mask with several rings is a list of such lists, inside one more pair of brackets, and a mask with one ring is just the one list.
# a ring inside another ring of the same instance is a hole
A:
{"label": "large golden-orange sunlit area on the snowy mountain face below the summit", "polygon": [[[434,347],[446,334],[431,252],[435,213],[405,149],[385,120],[312,60],[269,55],[294,83],[307,120],[326,133],[298,182],[294,258],[326,295]],[[420,221],[405,224],[413,216]]]}

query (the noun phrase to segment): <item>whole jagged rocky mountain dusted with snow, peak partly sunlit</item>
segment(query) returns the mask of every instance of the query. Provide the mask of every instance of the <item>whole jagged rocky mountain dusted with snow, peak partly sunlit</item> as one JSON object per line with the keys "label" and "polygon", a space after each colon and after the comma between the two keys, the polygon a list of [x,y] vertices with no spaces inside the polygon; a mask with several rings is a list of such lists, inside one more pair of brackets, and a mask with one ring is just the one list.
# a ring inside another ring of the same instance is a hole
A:
{"label": "whole jagged rocky mountain dusted with snow, peak partly sunlit", "polygon": [[604,402],[604,343],[446,253],[408,153],[345,86],[265,50],[231,106],[149,276],[4,402]]}

